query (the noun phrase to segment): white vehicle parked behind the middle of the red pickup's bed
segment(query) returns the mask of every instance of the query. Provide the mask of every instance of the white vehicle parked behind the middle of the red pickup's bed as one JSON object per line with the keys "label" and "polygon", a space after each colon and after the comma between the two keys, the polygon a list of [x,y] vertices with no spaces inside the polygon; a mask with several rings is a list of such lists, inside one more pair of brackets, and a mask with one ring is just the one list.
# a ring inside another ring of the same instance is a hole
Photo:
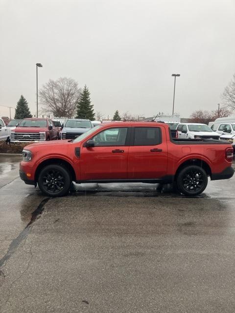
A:
{"label": "white vehicle parked behind the middle of the red pickup's bed", "polygon": [[220,134],[213,132],[206,124],[180,123],[177,131],[179,138],[219,139],[220,137]]}

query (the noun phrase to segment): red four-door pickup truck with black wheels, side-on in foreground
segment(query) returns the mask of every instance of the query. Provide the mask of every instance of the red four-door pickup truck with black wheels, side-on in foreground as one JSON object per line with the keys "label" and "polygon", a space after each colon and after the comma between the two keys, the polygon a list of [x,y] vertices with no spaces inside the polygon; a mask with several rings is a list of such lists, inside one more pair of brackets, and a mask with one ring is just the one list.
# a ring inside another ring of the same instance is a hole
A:
{"label": "red four-door pickup truck with black wheels, side-on in foreground", "polygon": [[168,125],[118,122],[95,126],[74,140],[34,143],[23,151],[20,177],[48,196],[63,196],[71,181],[175,182],[195,196],[208,177],[229,179],[233,148],[214,139],[173,139]]}

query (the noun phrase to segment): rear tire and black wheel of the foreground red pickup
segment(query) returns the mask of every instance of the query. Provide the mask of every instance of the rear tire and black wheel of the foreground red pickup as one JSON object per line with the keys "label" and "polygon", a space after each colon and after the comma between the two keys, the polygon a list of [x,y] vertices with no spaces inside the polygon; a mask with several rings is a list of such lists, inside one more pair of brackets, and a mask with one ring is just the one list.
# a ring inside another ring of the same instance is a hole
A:
{"label": "rear tire and black wheel of the foreground red pickup", "polygon": [[186,196],[197,196],[207,187],[208,177],[205,170],[197,165],[184,167],[176,178],[181,193]]}

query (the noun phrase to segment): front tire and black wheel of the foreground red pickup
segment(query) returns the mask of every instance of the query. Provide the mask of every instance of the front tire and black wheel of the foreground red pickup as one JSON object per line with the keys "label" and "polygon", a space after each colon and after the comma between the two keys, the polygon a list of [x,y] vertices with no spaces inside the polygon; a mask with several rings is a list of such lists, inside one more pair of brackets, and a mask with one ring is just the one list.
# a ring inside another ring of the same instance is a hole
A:
{"label": "front tire and black wheel of the foreground red pickup", "polygon": [[45,166],[38,178],[38,186],[49,197],[62,197],[66,195],[71,186],[69,171],[57,164]]}

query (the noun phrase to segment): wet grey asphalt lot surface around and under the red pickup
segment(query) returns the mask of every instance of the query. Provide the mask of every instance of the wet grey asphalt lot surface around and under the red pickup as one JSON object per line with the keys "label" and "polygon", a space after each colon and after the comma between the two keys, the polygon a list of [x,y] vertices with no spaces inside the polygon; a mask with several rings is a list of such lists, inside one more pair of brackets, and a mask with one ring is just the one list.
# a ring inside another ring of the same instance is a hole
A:
{"label": "wet grey asphalt lot surface around and under the red pickup", "polygon": [[74,185],[47,198],[0,156],[0,313],[235,311],[235,178]]}

